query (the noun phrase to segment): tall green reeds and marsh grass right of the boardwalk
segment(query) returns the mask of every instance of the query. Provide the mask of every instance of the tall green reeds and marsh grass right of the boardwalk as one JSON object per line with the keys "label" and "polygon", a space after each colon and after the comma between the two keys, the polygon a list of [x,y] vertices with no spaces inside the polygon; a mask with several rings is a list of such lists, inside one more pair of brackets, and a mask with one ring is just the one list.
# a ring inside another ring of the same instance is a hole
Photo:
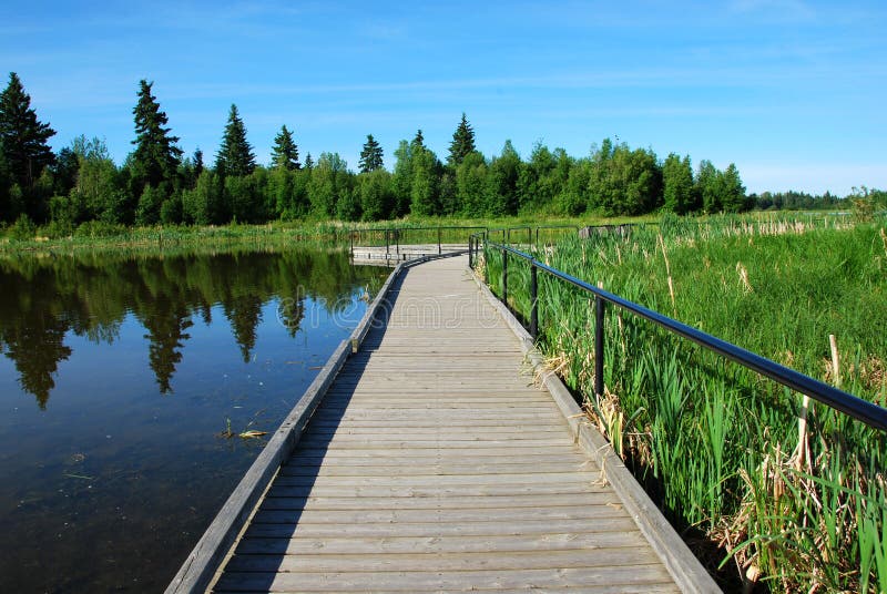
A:
{"label": "tall green reeds and marsh grass right of the boardwalk", "polygon": [[[881,406],[887,231],[844,219],[666,219],[565,238],[548,264]],[[501,256],[481,266],[501,291]],[[529,313],[527,266],[509,298]],[[884,433],[608,308],[593,396],[589,296],[540,275],[540,347],[728,587],[887,590]],[[832,363],[835,335],[839,367]],[[799,419],[806,414],[806,421]]]}

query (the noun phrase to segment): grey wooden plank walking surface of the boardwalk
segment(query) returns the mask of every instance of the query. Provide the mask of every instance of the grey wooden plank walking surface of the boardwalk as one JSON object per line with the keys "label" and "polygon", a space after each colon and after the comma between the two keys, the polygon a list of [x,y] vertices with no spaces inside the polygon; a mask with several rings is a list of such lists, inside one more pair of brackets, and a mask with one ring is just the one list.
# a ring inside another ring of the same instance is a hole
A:
{"label": "grey wooden plank walking surface of the boardwalk", "polygon": [[390,300],[214,590],[677,591],[466,258]]}

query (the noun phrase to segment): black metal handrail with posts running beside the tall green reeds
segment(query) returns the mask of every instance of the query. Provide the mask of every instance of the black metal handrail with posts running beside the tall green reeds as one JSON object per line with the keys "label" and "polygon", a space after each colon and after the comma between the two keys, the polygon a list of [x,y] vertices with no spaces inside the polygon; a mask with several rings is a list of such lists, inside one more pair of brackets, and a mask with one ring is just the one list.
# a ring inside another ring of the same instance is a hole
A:
{"label": "black metal handrail with posts running beside the tall green reeds", "polygon": [[[471,236],[471,239],[469,240],[469,249],[471,249],[473,242],[475,252],[469,252],[470,256],[477,253],[477,249],[479,248],[477,242],[479,239],[479,234]],[[782,386],[807,395],[810,398],[839,410],[845,414],[853,417],[854,419],[860,420],[870,427],[880,429],[881,431],[887,431],[887,409],[885,408],[881,408],[867,400],[863,400],[859,397],[856,397],[849,392],[845,392],[844,390],[839,390],[838,388],[824,383],[809,376],[805,376],[804,373],[795,371],[794,369],[789,369],[742,347],[737,347],[736,345],[727,342],[726,340],[722,340],[715,336],[703,332],[702,330],[693,328],[692,326],[687,326],[686,324],[672,319],[667,316],[663,316],[662,314],[649,309],[642,305],[629,301],[619,295],[614,295],[602,288],[590,285],[580,278],[537,260],[530,254],[520,252],[519,249],[514,249],[513,247],[507,245],[485,240],[483,247],[487,248],[487,246],[501,249],[502,252],[502,301],[506,304],[508,303],[508,281],[506,279],[506,275],[508,274],[508,254],[530,263],[530,301],[532,307],[530,314],[530,335],[533,337],[533,339],[536,339],[538,335],[539,319],[538,283],[536,278],[537,270],[542,270],[555,278],[573,285],[574,287],[594,295],[594,309],[597,318],[594,327],[594,393],[598,396],[603,395],[603,320],[604,304],[609,303],[631,311],[632,314],[649,321],[652,321],[653,324],[665,328],[672,334],[681,336],[682,338],[686,338],[687,340],[691,340],[703,348],[720,355],[721,357],[725,357],[747,369],[761,373],[762,376],[765,376],[777,383],[781,383]],[[601,354],[601,356],[597,356],[598,354]]]}

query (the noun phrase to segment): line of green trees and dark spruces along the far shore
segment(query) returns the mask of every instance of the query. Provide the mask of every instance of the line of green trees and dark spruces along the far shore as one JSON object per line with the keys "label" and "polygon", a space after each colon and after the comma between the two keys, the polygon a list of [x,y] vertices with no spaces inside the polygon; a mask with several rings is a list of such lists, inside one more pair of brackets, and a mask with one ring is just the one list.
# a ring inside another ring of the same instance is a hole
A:
{"label": "line of green trees and dark spruces along the far shore", "polygon": [[[801,204],[796,193],[747,195],[734,164],[694,168],[689,155],[660,160],[651,148],[604,139],[588,157],[538,143],[523,160],[510,141],[485,156],[462,114],[441,161],[422,131],[400,141],[394,165],[367,135],[359,171],[338,153],[300,161],[293,131],[281,127],[267,165],[256,162],[246,125],[231,106],[213,163],[198,148],[185,156],[166,113],[139,83],[134,148],[118,166],[104,142],[80,136],[54,154],[54,135],[10,73],[0,95],[0,222],[26,217],[64,233],[82,223],[122,225],[264,223],[272,219],[379,221],[409,214],[496,217],[526,213],[604,216],[742,212]],[[832,204],[808,196],[804,207]]]}

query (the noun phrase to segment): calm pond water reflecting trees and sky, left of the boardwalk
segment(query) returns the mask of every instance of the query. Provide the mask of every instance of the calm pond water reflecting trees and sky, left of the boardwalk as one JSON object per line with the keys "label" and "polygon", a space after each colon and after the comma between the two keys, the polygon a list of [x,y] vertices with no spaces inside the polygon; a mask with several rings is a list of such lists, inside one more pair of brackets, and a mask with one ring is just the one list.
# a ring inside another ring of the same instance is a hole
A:
{"label": "calm pond water reflecting trees and sky, left of the boardwalk", "polygon": [[387,270],[0,260],[0,592],[163,591]]}

